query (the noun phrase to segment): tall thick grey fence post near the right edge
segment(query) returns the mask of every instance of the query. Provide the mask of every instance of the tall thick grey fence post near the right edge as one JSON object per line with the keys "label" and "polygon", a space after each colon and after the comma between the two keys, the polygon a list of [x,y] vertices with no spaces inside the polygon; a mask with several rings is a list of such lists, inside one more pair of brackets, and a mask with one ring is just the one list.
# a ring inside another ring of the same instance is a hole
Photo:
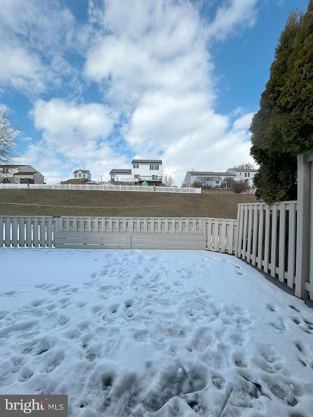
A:
{"label": "tall thick grey fence post near the right edge", "polygon": [[307,298],[305,283],[310,273],[310,211],[311,211],[311,162],[307,154],[297,157],[297,237],[295,295]]}

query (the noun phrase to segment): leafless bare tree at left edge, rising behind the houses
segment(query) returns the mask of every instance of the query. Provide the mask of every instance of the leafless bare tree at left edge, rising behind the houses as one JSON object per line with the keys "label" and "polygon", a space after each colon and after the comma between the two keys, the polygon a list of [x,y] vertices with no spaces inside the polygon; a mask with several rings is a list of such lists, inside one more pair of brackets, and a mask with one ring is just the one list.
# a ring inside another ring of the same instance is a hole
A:
{"label": "leafless bare tree at left edge, rising behind the houses", "polygon": [[12,126],[6,111],[0,109],[0,163],[12,162],[19,156],[14,149],[18,133],[18,128]]}

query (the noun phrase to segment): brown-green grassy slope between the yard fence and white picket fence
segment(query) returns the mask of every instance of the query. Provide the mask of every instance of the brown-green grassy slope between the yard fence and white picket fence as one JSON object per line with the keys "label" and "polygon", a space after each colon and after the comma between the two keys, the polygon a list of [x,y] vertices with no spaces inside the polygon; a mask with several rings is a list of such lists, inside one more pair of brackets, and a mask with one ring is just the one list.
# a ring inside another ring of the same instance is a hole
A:
{"label": "brown-green grassy slope between the yard fence and white picket fence", "polygon": [[203,191],[202,194],[0,190],[0,215],[235,219],[237,204],[249,202],[256,202],[253,194],[225,190]]}

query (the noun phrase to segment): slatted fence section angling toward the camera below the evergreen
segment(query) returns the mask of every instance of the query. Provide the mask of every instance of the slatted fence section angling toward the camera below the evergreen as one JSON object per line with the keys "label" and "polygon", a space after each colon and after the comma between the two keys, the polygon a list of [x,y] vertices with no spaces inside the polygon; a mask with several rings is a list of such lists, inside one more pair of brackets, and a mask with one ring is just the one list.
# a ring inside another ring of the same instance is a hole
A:
{"label": "slatted fence section angling toward the camera below the evergreen", "polygon": [[295,219],[296,201],[238,206],[237,256],[291,288],[295,278]]}

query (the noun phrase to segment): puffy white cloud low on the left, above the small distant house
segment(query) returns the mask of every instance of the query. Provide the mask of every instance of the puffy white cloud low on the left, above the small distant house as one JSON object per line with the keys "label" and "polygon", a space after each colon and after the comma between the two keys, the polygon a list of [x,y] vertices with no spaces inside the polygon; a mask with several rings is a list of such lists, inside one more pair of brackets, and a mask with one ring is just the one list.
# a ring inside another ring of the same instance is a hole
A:
{"label": "puffy white cloud low on the left, above the small distant house", "polygon": [[48,182],[70,178],[78,168],[89,169],[93,179],[106,171],[108,180],[115,163],[125,165],[125,156],[114,151],[116,143],[109,138],[116,114],[107,106],[38,100],[30,115],[43,139],[29,144],[21,161],[28,161]]}

